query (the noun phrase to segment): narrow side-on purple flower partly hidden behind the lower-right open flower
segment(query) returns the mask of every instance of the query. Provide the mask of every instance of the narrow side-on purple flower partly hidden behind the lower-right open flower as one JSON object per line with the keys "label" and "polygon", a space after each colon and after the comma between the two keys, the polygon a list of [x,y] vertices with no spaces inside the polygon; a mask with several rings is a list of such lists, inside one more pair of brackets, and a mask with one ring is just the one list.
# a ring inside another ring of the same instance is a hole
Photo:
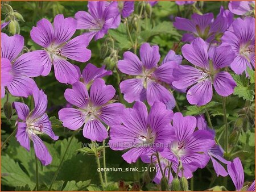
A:
{"label": "narrow side-on purple flower partly hidden behind the lower-right open flower", "polygon": [[[196,116],[197,120],[197,128],[199,130],[205,130],[212,134],[212,139],[215,137],[215,131],[212,130],[207,126],[207,122],[204,119],[204,115],[198,115]],[[217,174],[217,176],[221,175],[223,177],[228,176],[228,172],[226,172],[225,168],[217,161],[221,161],[224,164],[228,164],[229,161],[226,161],[223,158],[224,150],[221,148],[220,145],[214,144],[209,150],[208,155],[210,156],[210,159],[212,160],[213,168]]]}

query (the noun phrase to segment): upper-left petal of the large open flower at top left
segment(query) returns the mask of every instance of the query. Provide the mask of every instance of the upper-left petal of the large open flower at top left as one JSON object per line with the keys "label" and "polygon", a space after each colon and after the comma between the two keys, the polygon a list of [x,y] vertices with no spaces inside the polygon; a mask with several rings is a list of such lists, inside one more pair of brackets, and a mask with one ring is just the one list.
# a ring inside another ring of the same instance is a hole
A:
{"label": "upper-left petal of the large open flower at top left", "polygon": [[36,27],[32,28],[30,36],[36,44],[39,44],[42,47],[48,47],[54,39],[54,32],[51,22],[49,22],[47,19],[39,20],[39,22],[36,23]]}

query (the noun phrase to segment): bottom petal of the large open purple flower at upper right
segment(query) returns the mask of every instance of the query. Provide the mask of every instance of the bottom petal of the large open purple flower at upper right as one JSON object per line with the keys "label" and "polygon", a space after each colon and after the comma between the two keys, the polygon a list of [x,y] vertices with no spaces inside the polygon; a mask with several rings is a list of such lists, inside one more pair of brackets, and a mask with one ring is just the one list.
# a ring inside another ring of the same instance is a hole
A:
{"label": "bottom petal of the large open purple flower at upper right", "polygon": [[212,82],[203,81],[188,90],[187,99],[191,105],[202,106],[212,100],[212,94]]}

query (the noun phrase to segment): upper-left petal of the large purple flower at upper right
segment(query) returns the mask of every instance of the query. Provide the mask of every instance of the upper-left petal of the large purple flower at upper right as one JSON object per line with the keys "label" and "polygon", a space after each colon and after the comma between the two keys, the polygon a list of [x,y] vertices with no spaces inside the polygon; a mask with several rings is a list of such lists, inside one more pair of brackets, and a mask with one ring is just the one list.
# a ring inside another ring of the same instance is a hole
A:
{"label": "upper-left petal of the large purple flower at upper right", "polygon": [[181,51],[185,59],[200,68],[209,67],[207,44],[201,38],[196,38],[191,44],[185,44]]}

